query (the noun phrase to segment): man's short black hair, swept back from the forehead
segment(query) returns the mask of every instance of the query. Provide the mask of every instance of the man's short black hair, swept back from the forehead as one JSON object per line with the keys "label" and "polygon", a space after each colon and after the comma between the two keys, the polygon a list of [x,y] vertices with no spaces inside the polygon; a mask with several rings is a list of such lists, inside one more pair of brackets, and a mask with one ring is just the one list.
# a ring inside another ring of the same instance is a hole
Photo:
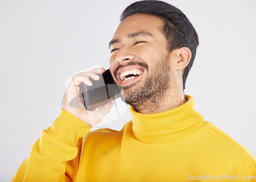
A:
{"label": "man's short black hair, swept back from the forehead", "polygon": [[181,47],[188,47],[190,49],[190,62],[183,73],[184,90],[187,75],[193,65],[197,46],[199,45],[195,28],[181,10],[162,1],[149,0],[135,2],[125,8],[120,16],[120,21],[122,22],[125,18],[135,13],[155,15],[164,20],[161,31],[167,40],[167,48],[169,51]]}

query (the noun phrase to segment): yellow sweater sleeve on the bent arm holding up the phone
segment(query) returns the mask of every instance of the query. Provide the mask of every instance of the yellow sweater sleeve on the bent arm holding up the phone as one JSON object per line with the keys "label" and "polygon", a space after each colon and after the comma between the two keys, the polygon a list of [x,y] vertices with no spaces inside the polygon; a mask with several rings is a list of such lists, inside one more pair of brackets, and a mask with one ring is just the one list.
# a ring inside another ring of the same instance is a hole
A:
{"label": "yellow sweater sleeve on the bent arm holding up the phone", "polygon": [[91,127],[61,108],[51,127],[41,132],[29,158],[20,164],[11,181],[72,181],[77,169],[79,138]]}

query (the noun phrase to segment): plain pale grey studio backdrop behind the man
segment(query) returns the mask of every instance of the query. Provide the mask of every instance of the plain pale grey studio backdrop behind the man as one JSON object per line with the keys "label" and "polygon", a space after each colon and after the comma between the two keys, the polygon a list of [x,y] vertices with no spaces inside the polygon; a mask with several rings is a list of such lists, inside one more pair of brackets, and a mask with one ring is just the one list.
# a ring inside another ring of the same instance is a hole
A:
{"label": "plain pale grey studio backdrop behind the man", "polygon": [[[11,180],[58,117],[68,77],[109,68],[108,43],[133,2],[0,1],[0,181]],[[206,121],[256,155],[256,1],[167,2],[184,12],[200,39],[185,94]],[[93,129],[119,130],[131,120],[129,107],[116,103]]]}

